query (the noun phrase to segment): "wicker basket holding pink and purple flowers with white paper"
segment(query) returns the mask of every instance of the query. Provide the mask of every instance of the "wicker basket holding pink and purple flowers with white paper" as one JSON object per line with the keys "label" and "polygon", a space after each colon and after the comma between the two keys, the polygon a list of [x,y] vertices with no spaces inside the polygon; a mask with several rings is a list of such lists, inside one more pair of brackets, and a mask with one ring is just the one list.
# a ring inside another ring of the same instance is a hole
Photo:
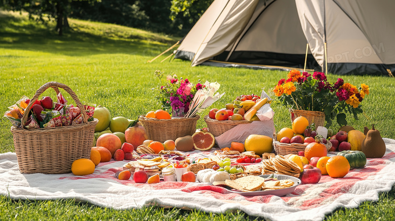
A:
{"label": "wicker basket holding pink and purple flowers with white paper", "polygon": [[196,123],[200,119],[198,113],[223,95],[216,92],[219,84],[202,84],[200,80],[194,84],[187,78],[179,78],[176,74],[167,75],[163,82],[164,72],[155,71],[155,75],[161,81],[161,86],[153,89],[157,93],[156,99],[161,102],[162,109],[171,112],[171,115],[161,119],[155,116],[140,116],[139,121],[147,131],[148,138],[164,142],[193,135]]}

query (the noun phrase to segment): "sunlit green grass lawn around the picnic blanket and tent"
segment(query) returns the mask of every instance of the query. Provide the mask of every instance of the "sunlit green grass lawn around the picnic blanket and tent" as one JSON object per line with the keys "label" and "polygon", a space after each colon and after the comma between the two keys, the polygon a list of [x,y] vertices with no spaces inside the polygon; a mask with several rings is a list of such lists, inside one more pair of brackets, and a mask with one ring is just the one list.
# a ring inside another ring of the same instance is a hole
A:
{"label": "sunlit green grass lawn around the picnic blanket and tent", "polygon": [[[111,115],[137,119],[150,110],[160,109],[151,90],[159,85],[155,70],[176,73],[192,82],[218,81],[225,96],[213,105],[222,108],[241,94],[260,94],[270,89],[286,72],[189,67],[189,62],[174,60],[160,63],[167,55],[152,63],[157,54],[173,45],[179,37],[164,36],[139,29],[112,24],[70,19],[72,30],[57,36],[54,24],[37,24],[25,16],[0,11],[0,112],[20,97],[33,97],[44,83],[58,81],[71,87],[83,102],[107,107]],[[329,74],[330,81],[338,75]],[[372,123],[382,137],[395,139],[395,79],[373,76],[341,76],[354,85],[366,83],[370,95],[363,102],[365,114],[359,120],[347,118],[350,125],[362,130]],[[54,97],[47,90],[43,96]],[[72,99],[63,93],[66,100]],[[269,93],[270,96],[274,96]],[[277,130],[291,126],[286,108],[273,104],[274,124]],[[203,112],[201,116],[208,113]],[[198,127],[206,126],[203,119]],[[0,118],[0,153],[14,152],[11,123]],[[337,129],[338,125],[333,124]],[[256,219],[243,212],[210,214],[201,211],[147,207],[113,210],[73,200],[29,201],[11,200],[0,196],[1,219],[133,219],[145,220],[245,220]],[[329,220],[372,220],[395,218],[395,190],[380,195],[378,202],[365,202],[358,209],[339,209],[328,215]],[[145,217],[145,218],[142,218]]]}

